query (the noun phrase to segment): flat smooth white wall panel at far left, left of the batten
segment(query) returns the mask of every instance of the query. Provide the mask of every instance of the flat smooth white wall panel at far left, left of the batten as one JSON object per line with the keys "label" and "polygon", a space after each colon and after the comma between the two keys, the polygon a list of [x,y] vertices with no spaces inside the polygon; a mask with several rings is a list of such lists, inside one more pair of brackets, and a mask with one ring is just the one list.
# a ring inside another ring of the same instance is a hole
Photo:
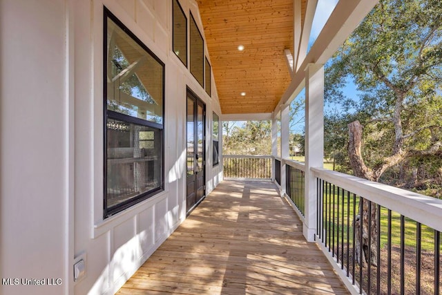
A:
{"label": "flat smooth white wall panel at far left, left of the batten", "polygon": [[1,278],[64,278],[65,23],[63,1],[0,1]]}

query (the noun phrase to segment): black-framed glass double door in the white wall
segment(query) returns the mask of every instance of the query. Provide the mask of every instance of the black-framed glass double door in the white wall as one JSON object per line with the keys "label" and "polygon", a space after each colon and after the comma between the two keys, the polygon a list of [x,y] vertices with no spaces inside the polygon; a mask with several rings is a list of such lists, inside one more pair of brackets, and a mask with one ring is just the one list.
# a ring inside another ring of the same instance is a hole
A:
{"label": "black-framed glass double door in the white wall", "polygon": [[206,155],[206,106],[189,89],[187,90],[187,189],[186,211],[190,211],[204,198]]}

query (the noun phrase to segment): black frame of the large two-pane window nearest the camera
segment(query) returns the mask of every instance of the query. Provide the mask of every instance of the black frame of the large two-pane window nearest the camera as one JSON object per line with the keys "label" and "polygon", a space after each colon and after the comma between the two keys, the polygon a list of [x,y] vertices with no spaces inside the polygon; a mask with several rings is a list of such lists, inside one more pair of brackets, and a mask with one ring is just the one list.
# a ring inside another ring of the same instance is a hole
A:
{"label": "black frame of the large two-pane window nearest the camera", "polygon": [[[146,53],[151,55],[153,59],[155,59],[163,68],[162,70],[162,123],[156,123],[148,120],[143,120],[138,117],[132,117],[130,115],[125,115],[123,113],[118,113],[115,111],[108,110],[107,108],[107,64],[108,64],[108,56],[107,56],[107,30],[108,30],[108,19],[111,19],[120,29],[122,29],[128,37],[131,37],[135,43],[140,45],[140,47],[144,50],[146,50]],[[116,213],[119,213],[125,209],[128,209],[129,207],[132,207],[133,205],[140,203],[148,198],[151,198],[155,196],[157,193],[160,193],[164,191],[164,119],[165,119],[165,78],[166,78],[166,67],[164,62],[157,57],[131,30],[129,30],[122,21],[119,21],[113,13],[108,10],[108,8],[104,7],[104,17],[103,17],[103,219],[109,218]],[[159,187],[156,187],[155,189],[152,189],[150,191],[145,191],[144,193],[140,193],[137,196],[133,196],[132,198],[125,200],[124,202],[121,202],[119,204],[116,204],[113,207],[108,208],[107,207],[107,160],[108,160],[108,153],[107,153],[107,122],[108,119],[111,120],[119,120],[124,123],[128,124],[136,124],[141,126],[147,126],[153,129],[157,129],[160,131],[161,134],[161,159],[160,159],[160,185]]]}

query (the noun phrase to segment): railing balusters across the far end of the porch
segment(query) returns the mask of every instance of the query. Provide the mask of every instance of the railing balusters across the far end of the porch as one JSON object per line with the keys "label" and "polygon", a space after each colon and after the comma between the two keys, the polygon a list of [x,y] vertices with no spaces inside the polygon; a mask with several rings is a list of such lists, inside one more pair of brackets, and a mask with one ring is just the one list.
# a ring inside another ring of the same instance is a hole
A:
{"label": "railing balusters across the far end of the porch", "polygon": [[271,179],[271,155],[223,155],[224,178]]}

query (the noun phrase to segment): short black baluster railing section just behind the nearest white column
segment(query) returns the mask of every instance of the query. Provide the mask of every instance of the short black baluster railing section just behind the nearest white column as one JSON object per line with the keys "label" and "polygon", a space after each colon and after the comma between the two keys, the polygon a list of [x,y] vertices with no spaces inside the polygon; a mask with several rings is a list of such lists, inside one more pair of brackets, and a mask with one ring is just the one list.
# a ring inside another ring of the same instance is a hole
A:
{"label": "short black baluster railing section just behind the nearest white column", "polygon": [[302,216],[305,213],[305,172],[301,169],[285,165],[286,182],[285,191],[289,200],[293,202]]}

